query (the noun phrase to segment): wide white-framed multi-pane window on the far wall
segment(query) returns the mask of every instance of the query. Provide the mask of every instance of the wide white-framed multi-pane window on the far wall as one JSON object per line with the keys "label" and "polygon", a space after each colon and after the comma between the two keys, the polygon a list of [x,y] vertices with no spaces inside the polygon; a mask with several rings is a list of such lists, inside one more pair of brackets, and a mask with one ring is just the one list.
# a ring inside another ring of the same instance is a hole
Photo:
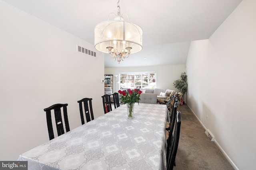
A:
{"label": "wide white-framed multi-pane window on the far wall", "polygon": [[119,89],[156,88],[156,72],[121,72]]}

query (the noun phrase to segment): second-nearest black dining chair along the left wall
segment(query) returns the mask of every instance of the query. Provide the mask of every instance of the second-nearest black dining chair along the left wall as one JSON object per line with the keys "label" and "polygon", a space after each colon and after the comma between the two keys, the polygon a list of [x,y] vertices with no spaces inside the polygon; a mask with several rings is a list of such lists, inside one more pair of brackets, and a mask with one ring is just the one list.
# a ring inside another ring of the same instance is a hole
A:
{"label": "second-nearest black dining chair along the left wall", "polygon": [[[84,115],[86,117],[86,122],[94,120],[93,111],[92,111],[92,98],[83,98],[82,100],[79,100],[77,102],[79,103],[82,125],[85,123]],[[83,105],[84,105],[84,111],[83,111]]]}

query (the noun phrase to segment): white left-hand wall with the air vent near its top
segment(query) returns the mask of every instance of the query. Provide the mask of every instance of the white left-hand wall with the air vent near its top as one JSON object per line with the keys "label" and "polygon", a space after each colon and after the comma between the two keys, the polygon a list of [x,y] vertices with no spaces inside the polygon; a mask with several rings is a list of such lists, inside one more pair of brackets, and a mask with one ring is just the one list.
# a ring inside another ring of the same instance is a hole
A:
{"label": "white left-hand wall with the air vent near its top", "polygon": [[0,1],[0,160],[49,141],[44,108],[68,103],[70,129],[81,125],[77,101],[104,114],[104,55],[76,52],[78,37]]}

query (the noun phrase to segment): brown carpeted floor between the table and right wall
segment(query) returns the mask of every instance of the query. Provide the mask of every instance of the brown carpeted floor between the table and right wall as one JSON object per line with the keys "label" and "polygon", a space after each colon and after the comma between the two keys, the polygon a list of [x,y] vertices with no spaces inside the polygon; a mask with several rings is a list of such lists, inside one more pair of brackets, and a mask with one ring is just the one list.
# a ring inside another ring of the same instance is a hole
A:
{"label": "brown carpeted floor between the table and right wall", "polygon": [[234,170],[217,145],[184,104],[180,105],[181,130],[174,170]]}

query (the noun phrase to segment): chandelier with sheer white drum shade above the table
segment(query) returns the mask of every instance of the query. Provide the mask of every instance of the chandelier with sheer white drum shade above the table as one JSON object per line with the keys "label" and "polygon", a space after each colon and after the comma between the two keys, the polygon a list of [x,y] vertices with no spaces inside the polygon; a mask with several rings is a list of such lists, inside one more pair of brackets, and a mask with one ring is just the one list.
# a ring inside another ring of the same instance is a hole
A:
{"label": "chandelier with sheer white drum shade above the table", "polygon": [[[114,13],[110,13],[114,14]],[[130,54],[142,50],[142,29],[129,21],[125,21],[121,14],[119,0],[117,3],[117,14],[114,20],[98,23],[94,29],[95,49],[103,53],[109,53],[118,64],[124,61]]]}

